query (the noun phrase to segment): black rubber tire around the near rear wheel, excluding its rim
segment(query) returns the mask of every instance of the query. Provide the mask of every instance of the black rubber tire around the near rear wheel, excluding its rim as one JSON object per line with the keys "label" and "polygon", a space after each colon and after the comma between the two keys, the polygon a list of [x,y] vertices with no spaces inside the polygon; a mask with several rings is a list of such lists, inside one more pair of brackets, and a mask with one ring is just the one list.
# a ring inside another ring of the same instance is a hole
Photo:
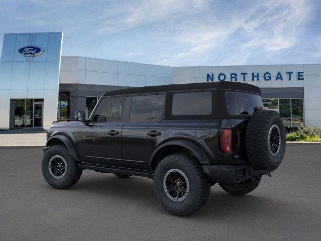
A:
{"label": "black rubber tire around the near rear wheel, excluding its rim", "polygon": [[[172,169],[182,171],[188,179],[189,192],[184,200],[174,201],[165,191],[164,178]],[[158,201],[176,216],[187,216],[200,210],[210,195],[211,183],[203,173],[201,164],[187,153],[177,153],[163,158],[156,167],[153,180]]]}

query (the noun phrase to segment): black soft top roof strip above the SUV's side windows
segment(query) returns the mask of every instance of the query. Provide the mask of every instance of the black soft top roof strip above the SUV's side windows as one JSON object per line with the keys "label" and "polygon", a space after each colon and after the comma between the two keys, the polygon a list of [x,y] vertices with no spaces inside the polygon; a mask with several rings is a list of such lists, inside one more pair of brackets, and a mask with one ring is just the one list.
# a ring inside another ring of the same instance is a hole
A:
{"label": "black soft top roof strip above the SUV's side windows", "polygon": [[238,82],[205,82],[205,83],[169,84],[169,85],[124,88],[124,89],[117,89],[117,90],[106,92],[103,96],[143,94],[143,93],[155,93],[155,92],[172,92],[172,91],[184,91],[184,90],[204,90],[204,89],[227,89],[227,90],[238,90],[238,91],[261,94],[260,88],[252,84],[245,84],[245,83],[238,83]]}

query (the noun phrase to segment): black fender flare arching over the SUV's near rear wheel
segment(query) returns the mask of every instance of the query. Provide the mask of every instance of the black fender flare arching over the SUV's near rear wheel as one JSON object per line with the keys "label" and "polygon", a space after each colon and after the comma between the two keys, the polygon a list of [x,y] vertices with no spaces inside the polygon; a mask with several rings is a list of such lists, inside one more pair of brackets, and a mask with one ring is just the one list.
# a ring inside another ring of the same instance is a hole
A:
{"label": "black fender flare arching over the SUV's near rear wheel", "polygon": [[164,143],[155,149],[155,151],[153,152],[153,154],[151,155],[150,160],[149,160],[150,170],[152,169],[151,165],[152,165],[152,160],[153,160],[154,156],[157,154],[157,152],[159,150],[161,150],[162,148],[167,147],[167,146],[184,147],[184,148],[188,149],[192,153],[192,155],[195,156],[200,161],[201,164],[212,164],[209,156],[198,145],[196,145],[192,142],[189,142],[189,141],[185,141],[185,140],[173,140],[173,141],[169,141],[167,143]]}

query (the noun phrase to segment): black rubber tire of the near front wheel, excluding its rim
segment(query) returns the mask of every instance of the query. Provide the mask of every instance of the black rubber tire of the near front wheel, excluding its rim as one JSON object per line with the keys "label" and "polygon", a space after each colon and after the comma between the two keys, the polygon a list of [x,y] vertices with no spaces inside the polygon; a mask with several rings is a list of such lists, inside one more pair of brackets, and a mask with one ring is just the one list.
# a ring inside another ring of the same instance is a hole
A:
{"label": "black rubber tire of the near front wheel, excluding its rim", "polygon": [[[65,175],[57,179],[50,173],[49,162],[54,156],[61,156],[64,158],[67,164]],[[46,182],[56,189],[65,189],[75,185],[81,177],[82,169],[79,168],[76,161],[70,156],[68,149],[64,145],[55,145],[50,147],[46,152],[42,160],[42,174]]]}

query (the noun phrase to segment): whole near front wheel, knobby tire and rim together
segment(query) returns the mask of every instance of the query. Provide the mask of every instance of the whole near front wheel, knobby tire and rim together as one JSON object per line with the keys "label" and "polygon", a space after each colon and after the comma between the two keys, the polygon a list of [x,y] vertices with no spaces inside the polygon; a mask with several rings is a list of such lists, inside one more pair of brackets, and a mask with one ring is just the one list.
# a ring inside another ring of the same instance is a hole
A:
{"label": "whole near front wheel, knobby tire and rim together", "polygon": [[46,182],[56,189],[75,185],[82,174],[82,169],[63,145],[52,146],[46,151],[41,168]]}

